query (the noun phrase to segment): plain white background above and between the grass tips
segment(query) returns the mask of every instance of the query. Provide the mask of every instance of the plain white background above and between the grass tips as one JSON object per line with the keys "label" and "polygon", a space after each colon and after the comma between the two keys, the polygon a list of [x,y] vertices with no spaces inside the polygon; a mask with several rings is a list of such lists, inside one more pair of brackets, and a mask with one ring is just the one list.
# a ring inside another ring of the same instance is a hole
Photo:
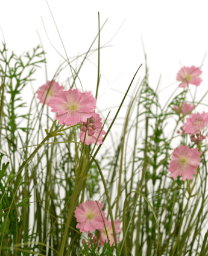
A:
{"label": "plain white background above and between the grass tips", "polygon": [[[48,80],[51,80],[63,59],[52,48],[48,37],[56,50],[65,58],[66,55],[46,1],[7,0],[0,2],[0,25],[8,50],[14,51],[17,55],[22,54],[24,51],[32,50],[33,47],[40,44],[40,39],[36,32],[38,30],[47,53]],[[100,110],[108,108],[108,110],[102,112],[104,117],[107,116],[108,111],[111,109],[110,107],[119,106],[134,73],[141,63],[143,65],[137,74],[133,88],[137,80],[139,78],[142,80],[145,74],[141,35],[147,53],[151,88],[156,90],[160,74],[162,78],[158,91],[170,85],[159,93],[159,102],[162,107],[179,85],[179,82],[175,80],[175,76],[181,65],[200,66],[204,54],[207,52],[207,1],[59,0],[48,1],[48,4],[68,57],[77,56],[78,53],[85,53],[88,50],[98,33],[98,11],[100,27],[108,19],[101,31],[101,46],[112,39],[125,21],[118,34],[109,43],[111,47],[102,49],[100,53],[101,83],[97,106]],[[42,16],[48,37],[40,16]],[[1,42],[3,41],[1,33],[0,40]],[[92,49],[97,47],[98,40],[96,40]],[[93,57],[90,57],[90,61],[83,66],[80,79],[84,91],[92,90],[95,96],[98,55],[93,54]],[[198,86],[197,100],[200,100],[208,89],[207,68],[208,56],[201,68],[203,82]],[[69,75],[71,73],[68,68],[66,72],[61,73],[57,81],[60,84],[64,83]],[[43,65],[42,69],[36,71],[34,78],[37,80],[32,85],[34,91],[37,91],[39,86],[46,83]],[[77,86],[81,89],[78,81]],[[130,90],[130,95],[133,93],[133,88]],[[192,91],[192,95],[194,95],[196,87],[190,85],[189,88]],[[182,90],[183,88],[178,88],[175,94]],[[104,92],[105,94],[103,94]],[[29,102],[32,96],[31,84],[28,84],[27,88],[24,89],[23,98]],[[203,101],[205,104],[207,98],[208,96]],[[188,98],[188,101],[190,100],[191,97]],[[127,98],[124,105],[127,106],[128,102],[129,98]],[[119,115],[120,118],[124,117],[125,106],[124,111]],[[197,110],[200,113],[203,110],[207,112],[207,106],[198,106]],[[116,109],[112,108],[109,120],[112,120],[115,111]],[[122,124],[123,120],[116,121],[115,131],[121,127],[119,123]],[[172,127],[171,129],[166,127],[166,129],[169,135],[172,135]],[[179,146],[178,142],[175,146]]]}

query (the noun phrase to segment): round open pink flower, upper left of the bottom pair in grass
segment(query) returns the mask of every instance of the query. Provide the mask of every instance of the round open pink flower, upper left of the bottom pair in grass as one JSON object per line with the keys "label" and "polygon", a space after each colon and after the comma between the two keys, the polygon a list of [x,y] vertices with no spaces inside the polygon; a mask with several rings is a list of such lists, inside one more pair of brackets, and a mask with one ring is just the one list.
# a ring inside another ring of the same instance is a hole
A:
{"label": "round open pink flower, upper left of the bottom pair in grass", "polygon": [[[104,203],[99,203],[99,208],[102,209]],[[80,228],[80,232],[95,231],[95,229],[101,228],[103,224],[102,217],[104,221],[107,220],[105,217],[106,213],[101,210],[99,211],[98,205],[95,201],[89,200],[84,203],[80,203],[80,206],[76,207],[75,217],[77,218],[77,226],[76,228]]]}

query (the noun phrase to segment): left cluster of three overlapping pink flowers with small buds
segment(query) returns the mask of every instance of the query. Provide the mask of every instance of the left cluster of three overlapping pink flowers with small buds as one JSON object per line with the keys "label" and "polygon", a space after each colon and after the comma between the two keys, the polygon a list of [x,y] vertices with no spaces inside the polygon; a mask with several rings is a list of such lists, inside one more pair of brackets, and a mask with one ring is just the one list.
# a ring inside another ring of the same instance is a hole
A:
{"label": "left cluster of three overlapping pink flowers with small buds", "polygon": [[[81,124],[80,140],[85,144],[96,143],[102,144],[102,135],[106,132],[102,129],[101,117],[95,113],[96,99],[91,92],[80,92],[78,89],[69,89],[63,91],[64,87],[58,85],[57,82],[47,82],[37,91],[37,98],[40,103],[44,103],[51,107],[51,112],[57,113],[56,120],[59,124],[66,126],[74,126]],[[89,121],[87,123],[87,118]]]}

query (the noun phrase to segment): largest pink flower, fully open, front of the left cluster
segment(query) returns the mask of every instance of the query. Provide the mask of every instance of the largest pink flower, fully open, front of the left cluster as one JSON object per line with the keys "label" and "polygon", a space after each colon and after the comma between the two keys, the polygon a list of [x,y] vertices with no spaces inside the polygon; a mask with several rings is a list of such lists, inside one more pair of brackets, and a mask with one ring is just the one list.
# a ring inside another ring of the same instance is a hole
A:
{"label": "largest pink flower, fully open, front of the left cluster", "polygon": [[80,92],[78,89],[69,89],[53,94],[51,112],[57,112],[55,119],[59,124],[72,126],[80,122],[86,122],[92,116],[96,107],[96,99],[90,92]]}

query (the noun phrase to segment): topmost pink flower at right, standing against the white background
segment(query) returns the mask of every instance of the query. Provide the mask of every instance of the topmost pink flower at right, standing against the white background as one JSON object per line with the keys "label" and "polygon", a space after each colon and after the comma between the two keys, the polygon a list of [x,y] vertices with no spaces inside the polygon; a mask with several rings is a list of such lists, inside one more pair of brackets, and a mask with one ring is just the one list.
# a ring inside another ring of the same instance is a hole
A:
{"label": "topmost pink flower at right, standing against the white background", "polygon": [[200,85],[202,79],[198,77],[201,75],[202,71],[200,68],[195,68],[195,66],[191,66],[191,68],[184,66],[178,71],[176,75],[176,80],[181,81],[179,87],[184,88],[191,83],[192,85]]}

